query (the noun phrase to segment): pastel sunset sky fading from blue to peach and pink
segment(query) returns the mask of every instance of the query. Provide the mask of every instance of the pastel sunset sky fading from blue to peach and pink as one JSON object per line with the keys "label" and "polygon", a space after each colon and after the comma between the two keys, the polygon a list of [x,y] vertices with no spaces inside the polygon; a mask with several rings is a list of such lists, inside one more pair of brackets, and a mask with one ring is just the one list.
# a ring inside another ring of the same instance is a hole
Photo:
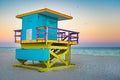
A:
{"label": "pastel sunset sky fading from blue to peach and pink", "polygon": [[80,47],[120,47],[120,0],[0,0],[0,47],[16,46],[17,14],[49,8],[73,16],[59,28],[80,32]]}

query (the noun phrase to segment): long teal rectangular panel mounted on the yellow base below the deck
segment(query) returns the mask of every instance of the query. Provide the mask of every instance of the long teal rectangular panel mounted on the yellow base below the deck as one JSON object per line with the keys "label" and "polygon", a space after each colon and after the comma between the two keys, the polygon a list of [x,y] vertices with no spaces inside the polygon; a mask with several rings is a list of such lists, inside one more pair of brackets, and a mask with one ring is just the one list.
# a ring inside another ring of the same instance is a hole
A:
{"label": "long teal rectangular panel mounted on the yellow base below the deck", "polygon": [[47,61],[49,49],[16,49],[16,59]]}

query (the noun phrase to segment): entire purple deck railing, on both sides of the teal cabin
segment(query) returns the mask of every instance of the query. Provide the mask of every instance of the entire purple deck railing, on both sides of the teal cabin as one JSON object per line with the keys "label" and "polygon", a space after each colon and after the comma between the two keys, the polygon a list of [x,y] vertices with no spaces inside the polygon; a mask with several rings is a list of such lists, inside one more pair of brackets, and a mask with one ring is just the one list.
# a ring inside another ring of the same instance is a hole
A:
{"label": "entire purple deck railing, on both sides of the teal cabin", "polygon": [[[43,32],[39,32],[39,30],[43,29]],[[49,32],[49,29],[57,30],[57,32]],[[21,39],[21,34],[22,30],[14,30],[15,32],[15,42],[17,41],[17,37]],[[20,33],[20,34],[17,34]],[[79,32],[71,31],[71,30],[65,30],[65,29],[60,29],[60,28],[53,28],[53,27],[47,27],[47,26],[42,26],[42,27],[37,27],[36,28],[36,41],[41,39],[39,35],[43,34],[43,39],[45,40],[47,44],[48,36],[51,35],[56,35],[57,40],[59,41],[68,41],[68,42],[77,42],[78,43],[78,38],[79,38]]]}

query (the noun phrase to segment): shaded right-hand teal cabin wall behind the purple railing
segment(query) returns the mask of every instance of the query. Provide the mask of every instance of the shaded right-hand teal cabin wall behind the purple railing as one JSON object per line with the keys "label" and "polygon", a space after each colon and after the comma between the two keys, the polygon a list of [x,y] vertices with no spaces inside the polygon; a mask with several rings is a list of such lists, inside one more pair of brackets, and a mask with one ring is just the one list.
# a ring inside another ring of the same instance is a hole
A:
{"label": "shaded right-hand teal cabin wall behind the purple railing", "polygon": [[[52,28],[57,28],[58,20],[49,16],[39,15],[38,26],[47,26]],[[40,29],[39,32],[45,32],[45,29]],[[44,34],[39,35],[40,38],[44,38]],[[48,28],[48,39],[56,40],[57,39],[57,30]]]}

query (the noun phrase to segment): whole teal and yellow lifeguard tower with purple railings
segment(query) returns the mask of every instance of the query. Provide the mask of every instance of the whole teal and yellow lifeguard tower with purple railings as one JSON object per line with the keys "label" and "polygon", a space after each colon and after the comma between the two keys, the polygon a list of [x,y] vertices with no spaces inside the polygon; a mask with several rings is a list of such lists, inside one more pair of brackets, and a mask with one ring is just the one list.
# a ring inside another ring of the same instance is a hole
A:
{"label": "whole teal and yellow lifeguard tower with purple railings", "polygon": [[71,45],[78,44],[79,32],[58,28],[58,21],[72,16],[44,8],[16,18],[22,19],[22,29],[14,30],[15,42],[21,45],[16,49],[20,64],[15,67],[46,72],[76,66],[71,63]]}

